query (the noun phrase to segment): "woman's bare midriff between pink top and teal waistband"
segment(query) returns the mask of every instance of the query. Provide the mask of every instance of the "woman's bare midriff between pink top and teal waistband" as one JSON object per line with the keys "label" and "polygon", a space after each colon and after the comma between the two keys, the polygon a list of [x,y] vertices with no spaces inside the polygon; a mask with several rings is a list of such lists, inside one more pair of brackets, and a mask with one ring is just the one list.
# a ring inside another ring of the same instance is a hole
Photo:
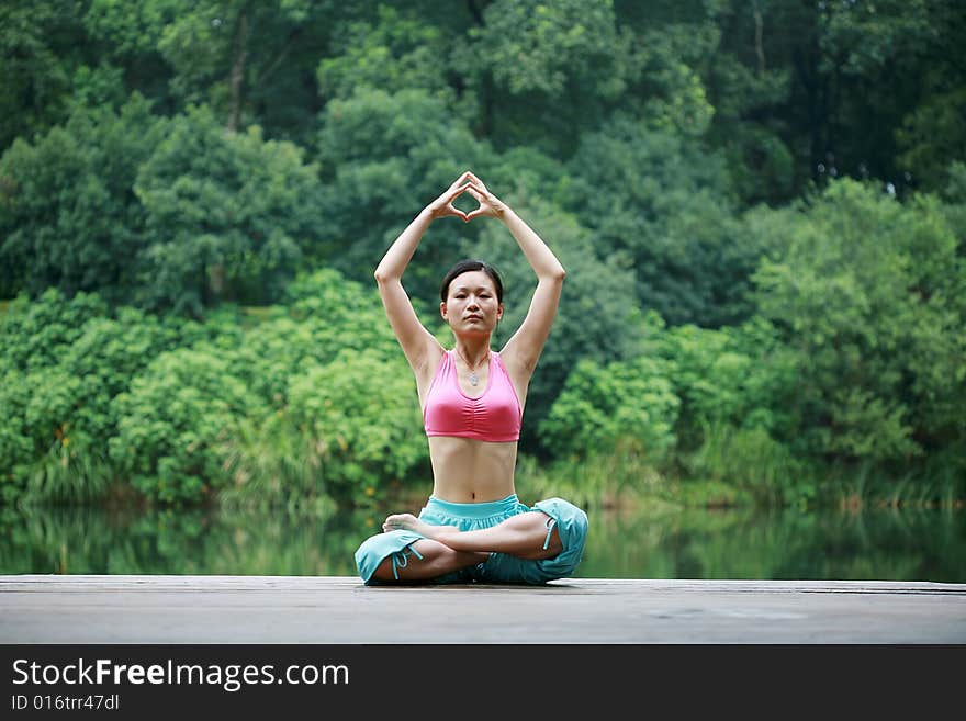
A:
{"label": "woman's bare midriff between pink top and teal waistband", "polygon": [[458,504],[499,500],[516,493],[517,443],[433,436],[433,495]]}

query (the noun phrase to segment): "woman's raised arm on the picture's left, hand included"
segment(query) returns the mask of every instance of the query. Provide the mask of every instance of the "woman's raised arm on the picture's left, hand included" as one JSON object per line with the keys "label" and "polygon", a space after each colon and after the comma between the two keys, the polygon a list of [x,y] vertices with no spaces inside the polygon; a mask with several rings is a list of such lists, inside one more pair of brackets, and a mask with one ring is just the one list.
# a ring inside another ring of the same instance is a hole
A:
{"label": "woman's raised arm on the picture's left, hand included", "polygon": [[425,373],[433,351],[440,346],[433,334],[419,323],[409,296],[403,288],[403,272],[433,221],[447,215],[467,219],[467,214],[454,207],[452,202],[468,189],[469,178],[464,172],[439,198],[423,209],[393,241],[375,268],[375,282],[379,284],[382,305],[417,380]]}

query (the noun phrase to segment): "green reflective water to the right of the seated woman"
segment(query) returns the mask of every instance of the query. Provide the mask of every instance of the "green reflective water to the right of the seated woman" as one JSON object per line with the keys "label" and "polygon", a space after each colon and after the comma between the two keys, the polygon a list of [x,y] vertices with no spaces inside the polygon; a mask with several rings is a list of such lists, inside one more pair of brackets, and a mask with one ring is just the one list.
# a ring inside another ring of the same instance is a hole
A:
{"label": "green reflective water to the right of the seated woman", "polygon": [[966,514],[687,510],[598,520],[581,575],[966,582]]}

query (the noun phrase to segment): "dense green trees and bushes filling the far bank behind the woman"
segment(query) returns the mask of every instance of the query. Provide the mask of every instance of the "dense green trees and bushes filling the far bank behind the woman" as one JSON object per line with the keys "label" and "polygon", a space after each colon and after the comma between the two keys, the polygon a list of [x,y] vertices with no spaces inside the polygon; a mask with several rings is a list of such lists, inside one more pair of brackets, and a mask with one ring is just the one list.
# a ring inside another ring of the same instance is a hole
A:
{"label": "dense green trees and bushes filling the far bank behind the woman", "polygon": [[[4,2],[0,498],[424,484],[371,273],[467,168],[568,270],[526,463],[962,498],[964,44],[955,0]],[[464,256],[498,346],[499,224],[406,288],[445,340]]]}

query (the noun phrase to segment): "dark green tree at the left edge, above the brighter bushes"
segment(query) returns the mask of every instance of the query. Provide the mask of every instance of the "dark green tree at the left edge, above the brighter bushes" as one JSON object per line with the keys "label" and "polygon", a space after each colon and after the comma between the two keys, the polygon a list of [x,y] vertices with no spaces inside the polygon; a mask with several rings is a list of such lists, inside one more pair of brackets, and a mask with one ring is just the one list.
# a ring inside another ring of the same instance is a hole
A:
{"label": "dark green tree at the left edge, above the brighter bushes", "polygon": [[34,144],[0,158],[0,294],[54,286],[127,300],[144,249],[138,167],[166,128],[137,95],[120,112],[78,110]]}

